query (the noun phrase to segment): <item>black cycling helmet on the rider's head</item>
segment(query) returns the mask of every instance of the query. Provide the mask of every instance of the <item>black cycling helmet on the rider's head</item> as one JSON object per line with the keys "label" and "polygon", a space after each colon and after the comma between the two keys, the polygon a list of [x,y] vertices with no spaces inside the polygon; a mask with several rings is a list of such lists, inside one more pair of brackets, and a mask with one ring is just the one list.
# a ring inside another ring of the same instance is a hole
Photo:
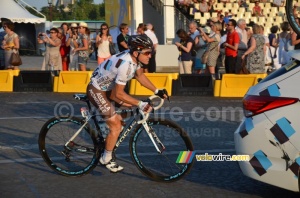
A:
{"label": "black cycling helmet on the rider's head", "polygon": [[130,52],[153,48],[153,43],[147,35],[130,36],[128,40]]}

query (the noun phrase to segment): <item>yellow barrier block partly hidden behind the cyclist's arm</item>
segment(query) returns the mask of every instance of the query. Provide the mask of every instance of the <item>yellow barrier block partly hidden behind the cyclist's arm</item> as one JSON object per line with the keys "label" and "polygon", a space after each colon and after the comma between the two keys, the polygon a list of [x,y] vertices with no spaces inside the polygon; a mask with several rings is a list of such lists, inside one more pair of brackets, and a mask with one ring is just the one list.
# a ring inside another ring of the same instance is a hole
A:
{"label": "yellow barrier block partly hidden behind the cyclist's arm", "polygon": [[[157,87],[165,88],[172,95],[172,80],[178,78],[178,73],[145,73],[147,78]],[[143,87],[136,79],[130,81],[130,95],[152,95],[153,92]]]}

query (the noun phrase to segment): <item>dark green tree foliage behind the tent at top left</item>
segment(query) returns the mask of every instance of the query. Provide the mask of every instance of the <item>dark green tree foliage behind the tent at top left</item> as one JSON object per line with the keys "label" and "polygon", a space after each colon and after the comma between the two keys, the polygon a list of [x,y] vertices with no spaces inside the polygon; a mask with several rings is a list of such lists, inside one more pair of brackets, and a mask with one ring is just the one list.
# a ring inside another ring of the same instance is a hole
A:
{"label": "dark green tree foliage behind the tent at top left", "polygon": [[[35,15],[41,17],[33,9],[26,7],[27,10]],[[68,5],[69,12],[64,11],[64,6],[52,6],[52,21],[66,21],[66,20],[94,20],[101,21],[105,20],[105,4],[94,4],[93,0],[77,0],[74,5]],[[40,10],[47,20],[50,19],[50,8],[42,7]]]}

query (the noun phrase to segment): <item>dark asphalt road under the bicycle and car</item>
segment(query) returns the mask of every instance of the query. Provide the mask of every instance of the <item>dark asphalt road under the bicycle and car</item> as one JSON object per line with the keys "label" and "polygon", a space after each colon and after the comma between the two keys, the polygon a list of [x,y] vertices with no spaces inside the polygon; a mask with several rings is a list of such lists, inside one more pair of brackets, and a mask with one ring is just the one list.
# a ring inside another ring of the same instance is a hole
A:
{"label": "dark asphalt road under the bicycle and car", "polygon": [[[98,166],[91,174],[56,174],[38,151],[38,134],[59,113],[79,115],[83,103],[72,94],[1,93],[0,197],[299,197],[299,194],[252,180],[236,162],[195,162],[189,175],[164,184],[151,181],[134,166],[125,140],[117,152],[122,173]],[[180,124],[197,154],[234,152],[233,133],[242,117],[240,99],[171,97],[161,116]]]}

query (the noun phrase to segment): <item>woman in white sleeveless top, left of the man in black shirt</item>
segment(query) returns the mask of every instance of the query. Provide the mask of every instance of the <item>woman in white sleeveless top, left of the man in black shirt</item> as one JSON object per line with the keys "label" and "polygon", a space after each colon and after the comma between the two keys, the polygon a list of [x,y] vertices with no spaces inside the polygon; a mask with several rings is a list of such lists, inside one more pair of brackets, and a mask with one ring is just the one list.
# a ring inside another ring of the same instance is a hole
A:
{"label": "woman in white sleeveless top, left of the man in black shirt", "polygon": [[96,44],[98,46],[98,65],[111,57],[109,44],[112,43],[112,36],[109,34],[107,23],[102,23],[100,34],[97,35]]}

